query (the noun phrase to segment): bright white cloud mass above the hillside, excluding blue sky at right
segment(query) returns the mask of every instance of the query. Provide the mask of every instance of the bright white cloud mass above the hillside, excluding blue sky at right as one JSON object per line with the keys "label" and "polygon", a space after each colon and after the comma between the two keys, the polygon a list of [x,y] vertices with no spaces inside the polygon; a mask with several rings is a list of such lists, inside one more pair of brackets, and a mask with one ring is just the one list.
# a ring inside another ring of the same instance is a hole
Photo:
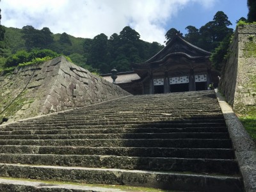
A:
{"label": "bright white cloud mass above the hillside, excluding blue sky at right", "polygon": [[131,26],[142,40],[163,44],[166,22],[189,3],[209,8],[218,0],[2,0],[1,24],[47,27],[53,33],[93,38]]}

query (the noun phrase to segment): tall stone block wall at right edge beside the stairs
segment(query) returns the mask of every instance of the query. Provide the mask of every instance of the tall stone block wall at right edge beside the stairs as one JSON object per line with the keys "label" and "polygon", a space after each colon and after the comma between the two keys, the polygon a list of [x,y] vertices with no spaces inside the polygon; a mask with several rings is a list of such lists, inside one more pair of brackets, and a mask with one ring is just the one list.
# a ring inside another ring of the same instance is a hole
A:
{"label": "tall stone block wall at right edge beside the stairs", "polygon": [[221,74],[220,92],[237,112],[256,102],[256,25],[237,26],[228,61]]}

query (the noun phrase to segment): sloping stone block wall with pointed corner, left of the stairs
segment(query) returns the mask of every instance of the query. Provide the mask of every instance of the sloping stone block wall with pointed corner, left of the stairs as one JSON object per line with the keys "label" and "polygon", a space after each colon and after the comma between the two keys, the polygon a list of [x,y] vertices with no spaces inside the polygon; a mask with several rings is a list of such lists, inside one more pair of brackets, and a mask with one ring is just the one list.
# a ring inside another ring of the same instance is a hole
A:
{"label": "sloping stone block wall with pointed corner, left of the stairs", "polygon": [[130,95],[63,56],[0,74],[0,90],[0,118],[8,122]]}

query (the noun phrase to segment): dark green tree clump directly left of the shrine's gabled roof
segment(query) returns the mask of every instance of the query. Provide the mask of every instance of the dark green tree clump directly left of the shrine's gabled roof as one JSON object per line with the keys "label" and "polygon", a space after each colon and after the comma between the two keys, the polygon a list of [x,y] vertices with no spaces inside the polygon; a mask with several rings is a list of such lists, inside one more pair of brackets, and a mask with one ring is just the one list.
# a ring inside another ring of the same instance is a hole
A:
{"label": "dark green tree clump directly left of the shrine's gabled roof", "polygon": [[131,63],[147,60],[163,46],[140,40],[140,34],[126,26],[119,35],[113,33],[109,38],[103,33],[84,42],[87,65],[98,68],[100,73],[109,73],[115,67],[118,72],[131,70]]}

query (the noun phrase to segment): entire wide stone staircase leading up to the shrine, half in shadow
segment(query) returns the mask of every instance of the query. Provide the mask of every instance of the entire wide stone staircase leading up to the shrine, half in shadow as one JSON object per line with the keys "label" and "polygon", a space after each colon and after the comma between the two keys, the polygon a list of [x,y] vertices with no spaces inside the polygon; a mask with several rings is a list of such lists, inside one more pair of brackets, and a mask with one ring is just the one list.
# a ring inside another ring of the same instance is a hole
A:
{"label": "entire wide stone staircase leading up to the shrine, half in shadow", "polygon": [[[0,177],[7,180],[243,191],[213,91],[129,96],[4,125],[0,166]],[[0,186],[58,191],[2,180]]]}

